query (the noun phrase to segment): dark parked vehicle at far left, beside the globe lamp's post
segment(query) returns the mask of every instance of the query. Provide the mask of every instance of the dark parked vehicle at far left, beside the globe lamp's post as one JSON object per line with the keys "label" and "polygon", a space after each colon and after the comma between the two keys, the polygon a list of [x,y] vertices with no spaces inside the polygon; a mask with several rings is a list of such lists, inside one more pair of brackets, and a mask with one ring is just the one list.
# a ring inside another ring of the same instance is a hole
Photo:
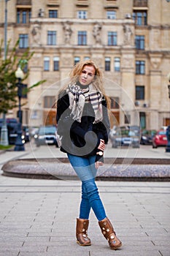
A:
{"label": "dark parked vehicle at far left, beside the globe lamp's post", "polygon": [[[14,145],[17,138],[18,121],[16,118],[6,118],[9,145]],[[0,118],[0,135],[3,118]]]}

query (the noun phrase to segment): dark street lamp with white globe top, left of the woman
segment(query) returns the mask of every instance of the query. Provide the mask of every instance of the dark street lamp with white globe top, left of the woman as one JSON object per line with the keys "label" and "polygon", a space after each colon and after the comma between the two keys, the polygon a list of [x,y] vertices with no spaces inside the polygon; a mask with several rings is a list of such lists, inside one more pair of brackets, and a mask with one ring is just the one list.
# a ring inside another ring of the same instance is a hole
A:
{"label": "dark street lamp with white globe top, left of the woman", "polygon": [[23,70],[18,67],[17,71],[15,72],[15,77],[18,78],[18,131],[17,131],[17,140],[15,142],[15,148],[14,151],[25,151],[24,144],[22,141],[22,111],[20,108],[20,99],[22,97],[22,88],[23,84],[21,83],[21,80],[24,78]]}

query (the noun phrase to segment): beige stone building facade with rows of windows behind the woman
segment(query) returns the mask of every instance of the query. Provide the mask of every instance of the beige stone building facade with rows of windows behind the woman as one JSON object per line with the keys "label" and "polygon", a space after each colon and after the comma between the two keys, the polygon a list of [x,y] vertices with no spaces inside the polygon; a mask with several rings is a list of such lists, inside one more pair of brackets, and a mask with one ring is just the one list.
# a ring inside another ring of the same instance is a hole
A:
{"label": "beige stone building facade with rows of windows behind the woman", "polygon": [[[0,2],[0,39],[4,7],[5,0]],[[77,61],[93,59],[104,73],[112,125],[169,125],[169,7],[168,0],[7,1],[11,47],[19,38],[20,53],[34,51],[26,82],[46,80],[28,94],[23,124],[55,124],[58,90]],[[15,110],[9,115],[15,117]]]}

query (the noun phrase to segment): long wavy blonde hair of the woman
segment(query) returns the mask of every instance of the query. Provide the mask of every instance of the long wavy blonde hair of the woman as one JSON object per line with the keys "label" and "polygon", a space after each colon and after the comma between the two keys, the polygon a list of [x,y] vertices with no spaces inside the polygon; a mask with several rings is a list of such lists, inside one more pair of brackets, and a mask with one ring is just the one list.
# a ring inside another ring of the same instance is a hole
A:
{"label": "long wavy blonde hair of the woman", "polygon": [[[110,99],[109,97],[107,97],[107,95],[105,94],[105,89],[104,89],[104,83],[103,83],[103,75],[101,70],[98,68],[98,66],[94,63],[94,61],[88,59],[85,61],[80,61],[78,62],[73,69],[71,70],[71,72],[69,73],[69,83],[77,83],[79,80],[79,77],[82,73],[82,69],[85,66],[93,66],[95,69],[95,78],[93,80],[93,86],[96,88],[97,91],[100,91],[102,95],[104,95],[105,99],[107,100],[107,106],[109,108],[110,106]],[[65,91],[66,88],[68,86],[68,83],[66,83],[63,88],[58,92],[58,94],[62,94],[62,91]]]}

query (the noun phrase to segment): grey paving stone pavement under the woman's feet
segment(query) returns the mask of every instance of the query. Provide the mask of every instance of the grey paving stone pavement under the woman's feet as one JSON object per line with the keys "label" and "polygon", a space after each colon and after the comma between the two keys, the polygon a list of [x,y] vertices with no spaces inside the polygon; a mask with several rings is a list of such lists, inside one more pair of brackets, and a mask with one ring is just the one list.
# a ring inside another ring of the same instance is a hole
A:
{"label": "grey paving stone pavement under the woman's feet", "polygon": [[109,249],[93,211],[92,245],[76,244],[80,181],[0,176],[0,256],[170,255],[169,182],[97,184],[121,249]]}

